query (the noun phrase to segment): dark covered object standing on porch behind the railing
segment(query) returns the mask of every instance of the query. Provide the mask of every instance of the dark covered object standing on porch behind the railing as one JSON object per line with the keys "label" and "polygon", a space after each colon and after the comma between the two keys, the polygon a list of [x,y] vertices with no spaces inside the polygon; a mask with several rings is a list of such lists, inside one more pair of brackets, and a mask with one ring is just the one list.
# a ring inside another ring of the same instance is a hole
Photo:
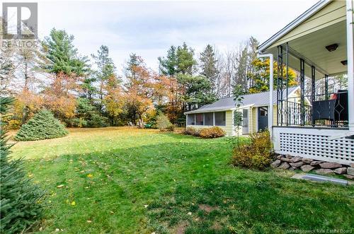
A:
{"label": "dark covered object standing on porch behind the railing", "polygon": [[335,99],[312,103],[312,119],[326,119],[333,123],[348,121],[348,90],[338,90]]}

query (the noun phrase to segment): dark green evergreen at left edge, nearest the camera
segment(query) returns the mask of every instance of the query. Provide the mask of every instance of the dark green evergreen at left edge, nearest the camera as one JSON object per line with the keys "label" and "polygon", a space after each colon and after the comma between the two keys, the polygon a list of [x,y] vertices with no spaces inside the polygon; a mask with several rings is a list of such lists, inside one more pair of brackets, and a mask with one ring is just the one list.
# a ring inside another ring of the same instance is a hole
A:
{"label": "dark green evergreen at left edge, nearest the camera", "polygon": [[[1,98],[1,115],[11,99]],[[9,156],[3,119],[0,121],[0,233],[26,233],[42,215],[42,190],[25,175],[23,160]]]}

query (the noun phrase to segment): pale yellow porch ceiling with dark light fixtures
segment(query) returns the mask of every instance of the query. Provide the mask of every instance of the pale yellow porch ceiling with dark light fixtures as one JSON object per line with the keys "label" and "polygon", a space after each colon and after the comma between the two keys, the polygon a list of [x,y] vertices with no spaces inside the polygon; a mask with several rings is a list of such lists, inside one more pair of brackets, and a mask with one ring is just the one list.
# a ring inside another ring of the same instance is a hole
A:
{"label": "pale yellow porch ceiling with dark light fixtures", "polygon": [[[316,67],[316,79],[323,78],[324,74],[336,75],[347,72],[347,66],[341,61],[347,59],[346,54],[346,21],[330,25],[326,28],[316,30],[302,37],[297,37],[289,42],[289,66],[299,71],[299,59],[305,60],[305,75],[311,76],[311,66]],[[327,45],[338,44],[338,48],[329,52]],[[283,45],[283,52],[285,52]],[[272,53],[275,59],[278,56],[276,47],[265,52]],[[286,59],[284,58],[284,62]]]}

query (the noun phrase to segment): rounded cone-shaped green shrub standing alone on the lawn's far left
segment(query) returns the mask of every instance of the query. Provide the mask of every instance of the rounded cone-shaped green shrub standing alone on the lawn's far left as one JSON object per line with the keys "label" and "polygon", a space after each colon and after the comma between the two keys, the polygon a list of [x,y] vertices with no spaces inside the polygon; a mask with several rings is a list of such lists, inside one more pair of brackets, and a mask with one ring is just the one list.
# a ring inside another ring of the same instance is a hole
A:
{"label": "rounded cone-shaped green shrub standing alone on the lawn's far left", "polygon": [[52,139],[68,134],[64,125],[55,119],[49,110],[40,110],[15,136],[16,141],[35,141],[42,139]]}

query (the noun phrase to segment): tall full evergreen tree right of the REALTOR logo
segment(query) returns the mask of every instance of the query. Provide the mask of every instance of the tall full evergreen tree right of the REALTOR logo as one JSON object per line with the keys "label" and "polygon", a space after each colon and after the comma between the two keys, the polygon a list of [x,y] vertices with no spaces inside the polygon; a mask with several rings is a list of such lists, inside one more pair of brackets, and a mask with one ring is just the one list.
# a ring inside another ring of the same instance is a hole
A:
{"label": "tall full evergreen tree right of the REALTOR logo", "polygon": [[74,36],[68,35],[65,30],[53,28],[50,36],[45,37],[42,43],[46,56],[40,67],[51,74],[84,76],[87,72],[87,58],[78,56],[73,40]]}

